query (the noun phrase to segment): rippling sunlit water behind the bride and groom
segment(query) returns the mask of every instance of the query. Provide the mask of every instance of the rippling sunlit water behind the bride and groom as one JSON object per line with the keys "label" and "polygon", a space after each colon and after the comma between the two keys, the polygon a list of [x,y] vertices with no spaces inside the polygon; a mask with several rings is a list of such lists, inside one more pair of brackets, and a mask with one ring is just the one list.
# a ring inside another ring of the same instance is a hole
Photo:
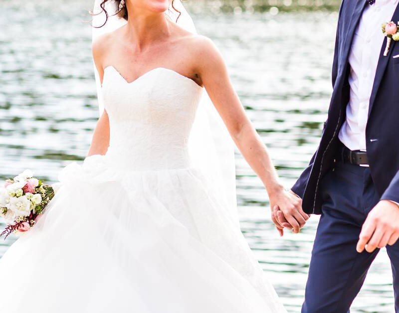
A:
{"label": "rippling sunlit water behind the bride and groom", "polygon": [[[224,55],[242,103],[289,187],[316,150],[326,119],[337,13],[277,14],[220,4],[196,1],[189,8],[199,32]],[[90,5],[90,0],[57,5],[0,0],[0,29],[6,29],[0,32],[0,178],[31,168],[54,181],[61,167],[85,157],[98,117]],[[280,238],[260,180],[236,158],[242,230],[288,311],[300,312],[318,217],[300,234]],[[0,255],[12,241],[1,242]],[[352,312],[394,312],[385,250]]]}

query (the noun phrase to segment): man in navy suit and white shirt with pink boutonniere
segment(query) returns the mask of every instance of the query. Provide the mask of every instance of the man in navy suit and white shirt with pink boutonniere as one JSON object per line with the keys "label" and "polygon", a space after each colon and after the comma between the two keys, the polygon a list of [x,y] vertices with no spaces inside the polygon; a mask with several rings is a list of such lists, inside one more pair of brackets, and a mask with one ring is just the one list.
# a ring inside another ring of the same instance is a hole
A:
{"label": "man in navy suit and white shirt with pink boutonniere", "polygon": [[[399,312],[399,42],[392,40],[385,56],[381,31],[383,23],[398,23],[398,1],[341,5],[328,120],[292,188],[306,213],[321,214],[303,313],[349,312],[385,246]],[[286,222],[281,211],[276,216]]]}

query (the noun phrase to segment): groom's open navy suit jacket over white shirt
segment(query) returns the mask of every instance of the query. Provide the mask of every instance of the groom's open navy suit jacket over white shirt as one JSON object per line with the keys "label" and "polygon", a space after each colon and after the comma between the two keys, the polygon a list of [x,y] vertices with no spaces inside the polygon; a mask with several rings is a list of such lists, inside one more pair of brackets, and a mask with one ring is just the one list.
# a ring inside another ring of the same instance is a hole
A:
{"label": "groom's open navy suit jacket over white shirt", "polygon": [[[345,121],[350,95],[348,57],[366,5],[369,5],[366,0],[343,0],[341,4],[332,69],[333,94],[328,118],[316,153],[292,187],[292,191],[303,199],[302,206],[306,213],[321,213],[323,201],[320,181],[334,165],[340,144],[338,133]],[[399,21],[399,5],[392,20],[395,23]],[[384,36],[382,32],[381,35]],[[387,38],[381,47],[370,98],[366,146],[371,174],[381,199],[399,202],[399,58],[393,58],[399,54],[399,42],[392,40],[390,51],[384,56],[386,43]]]}

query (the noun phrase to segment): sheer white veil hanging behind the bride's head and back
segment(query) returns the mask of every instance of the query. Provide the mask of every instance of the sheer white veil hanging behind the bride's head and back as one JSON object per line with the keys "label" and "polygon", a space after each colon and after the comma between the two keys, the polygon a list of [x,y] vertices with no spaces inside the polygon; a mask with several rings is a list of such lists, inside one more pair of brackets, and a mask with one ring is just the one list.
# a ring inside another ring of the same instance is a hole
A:
{"label": "sheer white veil hanging behind the bride's head and back", "polygon": [[[117,15],[119,8],[114,0],[107,1],[104,5],[108,12],[108,20],[106,21],[105,12],[100,6],[101,2],[102,0],[95,0],[94,3],[93,41],[102,34],[112,32],[126,24],[126,20]],[[168,18],[180,27],[196,34],[197,30],[193,19],[181,0],[175,0],[174,7],[176,10],[171,6],[165,12]],[[99,27],[101,25],[103,26]],[[168,67],[167,64],[165,67]],[[101,115],[104,110],[104,99],[100,77],[95,66],[94,72]],[[226,207],[230,210],[231,220],[239,227],[235,189],[234,143],[206,92],[203,93],[197,110],[189,139],[189,151],[193,165],[200,168],[209,178],[209,181],[213,183],[213,188],[218,191],[220,200],[224,201]]]}

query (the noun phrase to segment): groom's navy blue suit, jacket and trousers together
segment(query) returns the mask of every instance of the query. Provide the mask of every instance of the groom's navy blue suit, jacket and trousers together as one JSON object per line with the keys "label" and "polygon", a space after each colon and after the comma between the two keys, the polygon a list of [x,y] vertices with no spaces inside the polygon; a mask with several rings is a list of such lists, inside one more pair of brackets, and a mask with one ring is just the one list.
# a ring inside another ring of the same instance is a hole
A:
{"label": "groom's navy blue suit, jacket and trousers together", "polygon": [[[332,70],[333,94],[318,150],[292,190],[305,212],[321,214],[312,252],[306,313],[345,313],[359,292],[376,254],[356,252],[364,220],[379,200],[399,202],[399,42],[381,47],[366,127],[370,167],[336,161],[342,146],[338,133],[349,103],[348,57],[366,0],[343,0]],[[393,21],[399,21],[399,5]],[[382,21],[384,22],[384,21]],[[381,34],[383,36],[383,34]],[[387,248],[391,258],[396,312],[399,312],[399,244]],[[372,309],[372,308],[371,308]]]}

